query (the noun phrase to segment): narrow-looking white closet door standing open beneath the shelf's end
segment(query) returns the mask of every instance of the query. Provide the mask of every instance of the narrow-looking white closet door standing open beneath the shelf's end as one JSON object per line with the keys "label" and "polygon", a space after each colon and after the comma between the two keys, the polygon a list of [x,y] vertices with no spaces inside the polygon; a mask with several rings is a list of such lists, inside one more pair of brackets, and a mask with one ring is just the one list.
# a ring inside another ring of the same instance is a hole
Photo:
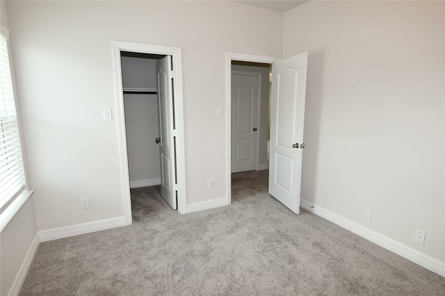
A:
{"label": "narrow-looking white closet door standing open beneath the shelf's end", "polygon": [[176,210],[175,138],[173,137],[173,90],[170,56],[156,62],[161,143],[161,195]]}

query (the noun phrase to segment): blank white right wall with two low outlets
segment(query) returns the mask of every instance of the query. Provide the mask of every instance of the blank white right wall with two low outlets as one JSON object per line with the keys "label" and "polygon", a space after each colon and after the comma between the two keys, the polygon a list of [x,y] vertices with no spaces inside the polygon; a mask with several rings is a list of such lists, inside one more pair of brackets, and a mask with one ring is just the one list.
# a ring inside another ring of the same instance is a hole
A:
{"label": "blank white right wall with two low outlets", "polygon": [[443,1],[284,13],[284,57],[309,52],[302,198],[442,262],[444,33]]}

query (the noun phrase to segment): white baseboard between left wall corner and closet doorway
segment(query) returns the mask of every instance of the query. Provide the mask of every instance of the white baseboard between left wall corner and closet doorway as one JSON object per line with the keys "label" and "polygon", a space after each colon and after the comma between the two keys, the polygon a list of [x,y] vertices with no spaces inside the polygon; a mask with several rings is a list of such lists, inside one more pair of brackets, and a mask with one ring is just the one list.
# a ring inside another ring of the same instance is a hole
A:
{"label": "white baseboard between left wall corner and closet doorway", "polygon": [[54,229],[41,230],[38,232],[41,242],[49,240],[58,240],[59,238],[68,238],[70,236],[79,236],[80,234],[91,233],[122,227],[127,225],[125,217],[114,217],[110,219],[86,222],[83,224],[75,224],[67,227],[58,227]]}

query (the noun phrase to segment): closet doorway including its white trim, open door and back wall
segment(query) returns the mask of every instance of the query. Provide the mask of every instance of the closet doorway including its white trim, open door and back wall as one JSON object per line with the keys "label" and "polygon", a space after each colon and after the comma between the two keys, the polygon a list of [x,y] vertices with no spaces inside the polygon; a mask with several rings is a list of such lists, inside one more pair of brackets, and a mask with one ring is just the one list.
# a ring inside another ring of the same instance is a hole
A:
{"label": "closet doorway including its white trim, open door and back wall", "polygon": [[113,49],[126,222],[130,188],[161,185],[165,201],[185,213],[181,50],[129,42]]}

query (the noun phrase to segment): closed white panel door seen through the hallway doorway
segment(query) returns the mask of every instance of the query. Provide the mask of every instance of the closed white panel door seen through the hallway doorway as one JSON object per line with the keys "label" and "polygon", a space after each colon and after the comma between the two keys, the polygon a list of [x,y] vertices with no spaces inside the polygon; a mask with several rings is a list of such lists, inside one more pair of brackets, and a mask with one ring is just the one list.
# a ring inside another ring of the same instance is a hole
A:
{"label": "closed white panel door seen through the hallway doorway", "polygon": [[232,173],[257,169],[261,74],[232,71]]}

